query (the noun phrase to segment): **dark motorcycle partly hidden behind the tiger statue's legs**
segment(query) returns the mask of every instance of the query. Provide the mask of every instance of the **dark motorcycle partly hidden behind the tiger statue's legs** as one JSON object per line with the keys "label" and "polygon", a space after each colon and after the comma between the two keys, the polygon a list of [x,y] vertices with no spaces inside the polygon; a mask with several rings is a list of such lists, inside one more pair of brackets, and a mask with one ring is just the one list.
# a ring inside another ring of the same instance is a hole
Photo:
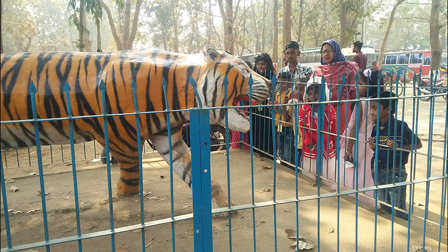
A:
{"label": "dark motorcycle partly hidden behind the tiger statue's legs", "polygon": [[[229,131],[229,139],[232,138],[232,132]],[[185,144],[188,146],[188,148],[191,148],[191,141],[190,141],[190,122],[186,121],[182,125],[182,138]],[[151,143],[149,139],[146,140],[146,142],[149,144],[149,146],[156,150],[154,145]],[[230,142],[229,142],[230,143]],[[221,125],[210,125],[210,151],[219,151],[226,148],[226,130],[225,127],[222,127]],[[100,154],[101,157],[101,163],[106,163],[106,150],[103,149]],[[110,164],[116,164],[117,161],[115,158],[110,155]]]}

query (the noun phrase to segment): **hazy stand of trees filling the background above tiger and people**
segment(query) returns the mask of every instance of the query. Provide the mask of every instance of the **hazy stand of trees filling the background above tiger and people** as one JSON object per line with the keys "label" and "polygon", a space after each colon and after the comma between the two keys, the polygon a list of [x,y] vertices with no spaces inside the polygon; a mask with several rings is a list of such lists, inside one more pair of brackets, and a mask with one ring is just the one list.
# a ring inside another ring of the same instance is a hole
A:
{"label": "hazy stand of trees filling the background above tiger and people", "polygon": [[[446,49],[448,5],[438,2],[439,39]],[[215,47],[235,55],[281,56],[289,39],[301,49],[330,38],[351,46],[361,39],[365,18],[363,42],[379,49],[395,3],[365,3],[366,12],[364,1],[354,0],[2,0],[0,35],[5,53],[147,47],[199,53]],[[400,4],[385,50],[429,49],[430,14],[429,0]]]}

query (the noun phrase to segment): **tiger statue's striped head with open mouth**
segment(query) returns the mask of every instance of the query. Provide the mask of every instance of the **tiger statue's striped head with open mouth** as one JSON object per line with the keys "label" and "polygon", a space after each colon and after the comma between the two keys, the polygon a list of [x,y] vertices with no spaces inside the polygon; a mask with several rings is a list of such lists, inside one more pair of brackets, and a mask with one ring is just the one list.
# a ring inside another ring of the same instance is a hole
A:
{"label": "tiger statue's striped head with open mouth", "polygon": [[[225,51],[208,48],[204,51],[206,68],[198,80],[198,92],[203,107],[225,106],[224,78],[227,74],[227,104],[238,106],[239,101],[249,101],[249,77],[252,75],[252,105],[266,100],[271,92],[271,81],[252,71],[242,59]],[[212,109],[210,123],[225,126],[225,110]],[[228,109],[228,127],[232,131],[247,132],[249,117],[238,108]]]}

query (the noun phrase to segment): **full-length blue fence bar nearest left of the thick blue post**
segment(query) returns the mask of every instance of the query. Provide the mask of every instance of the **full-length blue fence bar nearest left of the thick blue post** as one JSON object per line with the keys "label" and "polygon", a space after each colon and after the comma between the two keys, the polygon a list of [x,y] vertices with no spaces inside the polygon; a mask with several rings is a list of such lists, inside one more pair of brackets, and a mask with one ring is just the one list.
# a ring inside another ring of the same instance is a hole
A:
{"label": "full-length blue fence bar nearest left of the thick blue post", "polygon": [[170,110],[168,104],[168,93],[166,91],[166,80],[162,78],[163,95],[165,97],[165,113],[166,113],[166,128],[168,129],[168,146],[169,146],[169,193],[170,193],[170,207],[171,207],[171,245],[173,252],[176,251],[176,241],[174,236],[174,194],[173,194],[173,150],[171,148],[171,122],[170,122]]}

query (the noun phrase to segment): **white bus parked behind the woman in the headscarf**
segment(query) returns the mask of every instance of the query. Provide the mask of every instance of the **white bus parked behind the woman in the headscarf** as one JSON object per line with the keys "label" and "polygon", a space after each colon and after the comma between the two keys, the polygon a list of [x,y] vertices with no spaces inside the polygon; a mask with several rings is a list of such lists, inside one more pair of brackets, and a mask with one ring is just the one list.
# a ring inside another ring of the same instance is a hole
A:
{"label": "white bus parked behind the woman in the headscarf", "polygon": [[[342,48],[341,51],[347,60],[353,60],[355,53],[352,52],[352,47]],[[372,60],[376,60],[375,48],[371,45],[363,45],[361,51],[367,56],[366,67],[372,67]],[[321,66],[321,47],[309,48],[301,51],[299,62],[300,64],[313,69],[316,68],[316,66]]]}

